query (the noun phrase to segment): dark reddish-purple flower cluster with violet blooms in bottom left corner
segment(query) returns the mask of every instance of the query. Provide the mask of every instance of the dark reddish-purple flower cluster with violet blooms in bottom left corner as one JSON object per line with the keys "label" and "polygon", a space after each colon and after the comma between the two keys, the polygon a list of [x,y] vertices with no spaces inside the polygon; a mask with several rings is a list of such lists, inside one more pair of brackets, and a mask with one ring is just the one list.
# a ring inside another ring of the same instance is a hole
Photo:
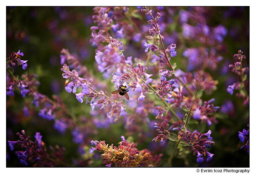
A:
{"label": "dark reddish-purple flower cluster with violet blooms in bottom left corner", "polygon": [[18,141],[8,141],[11,151],[14,150],[14,145],[19,144],[24,150],[16,151],[20,163],[23,165],[28,165],[28,162],[37,167],[54,167],[65,165],[64,161],[64,151],[65,148],[60,148],[58,145],[54,149],[50,146],[52,153],[49,154],[46,150],[45,143],[42,141],[42,135],[36,132],[35,141],[29,140],[29,136],[26,136],[25,131],[22,130],[21,134],[17,132],[20,140]]}

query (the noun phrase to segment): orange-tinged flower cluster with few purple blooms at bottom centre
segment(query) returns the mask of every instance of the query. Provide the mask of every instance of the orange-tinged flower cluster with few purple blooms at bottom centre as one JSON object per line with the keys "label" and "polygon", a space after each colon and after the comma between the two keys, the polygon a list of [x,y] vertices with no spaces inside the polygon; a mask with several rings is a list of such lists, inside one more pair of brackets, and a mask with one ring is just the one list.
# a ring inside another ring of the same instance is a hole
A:
{"label": "orange-tinged flower cluster with few purple blooms at bottom centre", "polygon": [[113,144],[108,146],[105,141],[92,140],[91,145],[95,145],[95,147],[91,147],[89,152],[93,153],[95,150],[104,152],[101,156],[103,164],[107,167],[148,167],[154,165],[156,159],[153,158],[150,151],[147,149],[139,151],[136,148],[137,145],[126,141],[124,136],[121,136],[121,140],[118,147],[113,146]]}

